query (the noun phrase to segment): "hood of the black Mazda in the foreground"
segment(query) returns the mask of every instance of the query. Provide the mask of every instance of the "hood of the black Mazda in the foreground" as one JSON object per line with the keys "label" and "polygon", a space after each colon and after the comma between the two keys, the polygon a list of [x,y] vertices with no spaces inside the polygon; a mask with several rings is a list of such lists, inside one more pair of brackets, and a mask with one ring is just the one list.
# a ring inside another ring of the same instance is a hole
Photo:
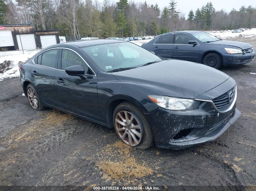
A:
{"label": "hood of the black Mazda in the foreground", "polygon": [[[164,60],[130,70],[112,72],[120,81],[144,85],[148,95],[195,98],[226,81],[229,76],[209,66],[182,60]],[[142,87],[142,86],[136,86]]]}

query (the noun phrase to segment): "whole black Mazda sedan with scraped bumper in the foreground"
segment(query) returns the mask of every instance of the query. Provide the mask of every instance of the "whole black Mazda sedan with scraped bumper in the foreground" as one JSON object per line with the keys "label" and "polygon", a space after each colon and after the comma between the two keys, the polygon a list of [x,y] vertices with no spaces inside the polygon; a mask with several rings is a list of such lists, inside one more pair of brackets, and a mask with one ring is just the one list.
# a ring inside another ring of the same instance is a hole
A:
{"label": "whole black Mazda sedan with scraped bumper in the foreground", "polygon": [[51,107],[114,127],[140,149],[209,142],[240,116],[228,75],[120,40],[49,46],[20,66],[20,82],[33,109]]}

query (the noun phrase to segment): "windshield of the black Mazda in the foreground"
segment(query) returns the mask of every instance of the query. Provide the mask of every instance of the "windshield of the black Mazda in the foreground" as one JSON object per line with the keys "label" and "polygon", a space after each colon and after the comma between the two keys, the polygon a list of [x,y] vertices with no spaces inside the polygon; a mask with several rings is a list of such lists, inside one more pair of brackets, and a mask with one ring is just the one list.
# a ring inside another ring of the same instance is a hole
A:
{"label": "windshield of the black Mazda in the foreground", "polygon": [[161,61],[155,54],[128,42],[101,44],[81,49],[104,72],[119,68],[137,68],[148,62]]}

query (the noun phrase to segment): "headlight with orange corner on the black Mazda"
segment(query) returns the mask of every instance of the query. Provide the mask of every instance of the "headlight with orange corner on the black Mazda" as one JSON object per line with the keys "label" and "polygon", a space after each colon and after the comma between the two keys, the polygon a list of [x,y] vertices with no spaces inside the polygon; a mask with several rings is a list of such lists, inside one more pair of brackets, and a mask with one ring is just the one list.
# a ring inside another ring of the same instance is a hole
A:
{"label": "headlight with orange corner on the black Mazda", "polygon": [[199,101],[192,99],[178,98],[178,97],[168,97],[168,96],[158,96],[149,95],[148,98],[156,103],[159,107],[168,110],[192,110],[198,106]]}

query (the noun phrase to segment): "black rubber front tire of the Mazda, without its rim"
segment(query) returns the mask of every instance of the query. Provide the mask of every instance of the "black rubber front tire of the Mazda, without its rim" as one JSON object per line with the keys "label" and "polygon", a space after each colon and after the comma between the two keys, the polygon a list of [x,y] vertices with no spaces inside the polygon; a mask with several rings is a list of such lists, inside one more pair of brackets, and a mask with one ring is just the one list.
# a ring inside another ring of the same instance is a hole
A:
{"label": "black rubber front tire of the Mazda, without its rim", "polygon": [[[142,129],[142,131],[141,131],[142,137],[140,139],[140,142],[138,143],[138,145],[131,146],[131,147],[138,148],[138,149],[147,149],[147,148],[153,146],[154,145],[154,134],[153,134],[153,131],[151,129],[151,125],[150,125],[148,119],[146,118],[144,113],[138,107],[136,107],[134,104],[132,104],[128,101],[120,103],[115,108],[115,111],[113,113],[114,128],[115,128],[115,131],[116,131],[118,137],[121,139],[120,135],[117,132],[117,127],[115,125],[115,118],[118,115],[118,113],[122,112],[122,111],[127,111],[127,112],[131,113],[135,117],[135,119],[138,121],[138,124],[142,127],[141,128]],[[124,140],[122,140],[122,141],[124,143],[126,143]],[[126,144],[128,144],[128,143],[126,143]]]}

